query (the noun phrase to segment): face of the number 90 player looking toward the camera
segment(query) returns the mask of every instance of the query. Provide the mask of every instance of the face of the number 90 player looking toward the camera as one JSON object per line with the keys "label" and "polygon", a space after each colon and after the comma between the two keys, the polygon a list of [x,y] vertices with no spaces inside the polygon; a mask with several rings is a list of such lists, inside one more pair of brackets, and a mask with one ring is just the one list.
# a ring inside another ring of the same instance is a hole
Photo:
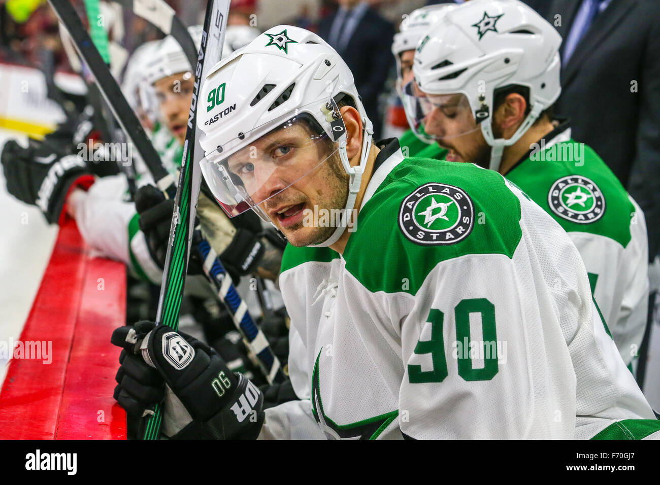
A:
{"label": "face of the number 90 player looking toward the camera", "polygon": [[335,231],[335,227],[310,224],[315,218],[306,214],[343,209],[348,175],[335,145],[310,143],[304,123],[251,143],[230,157],[228,168],[292,245],[321,243]]}

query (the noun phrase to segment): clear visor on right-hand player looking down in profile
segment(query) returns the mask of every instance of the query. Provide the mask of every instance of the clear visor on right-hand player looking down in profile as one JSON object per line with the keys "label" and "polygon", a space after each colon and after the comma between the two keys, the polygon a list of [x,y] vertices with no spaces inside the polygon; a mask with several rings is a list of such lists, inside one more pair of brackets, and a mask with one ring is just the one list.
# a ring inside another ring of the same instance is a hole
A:
{"label": "clear visor on right-hand player looking down in profile", "polygon": [[459,137],[480,131],[465,94],[426,94],[414,81],[403,86],[402,91],[403,106],[415,133],[419,131],[440,145],[443,141],[451,145]]}

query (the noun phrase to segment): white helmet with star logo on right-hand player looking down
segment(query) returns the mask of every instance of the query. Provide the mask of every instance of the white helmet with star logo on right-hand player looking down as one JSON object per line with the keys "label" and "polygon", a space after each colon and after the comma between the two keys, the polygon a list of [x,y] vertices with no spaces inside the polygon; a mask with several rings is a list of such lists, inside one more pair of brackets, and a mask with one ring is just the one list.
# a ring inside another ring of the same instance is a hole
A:
{"label": "white helmet with star logo on right-hand player looking down", "polygon": [[[521,1],[473,0],[447,12],[420,40],[415,87],[430,98],[463,94],[492,146],[489,168],[498,170],[504,146],[518,141],[560,95],[561,42],[554,27]],[[529,88],[530,112],[510,139],[495,139],[494,95],[512,85]],[[405,92],[413,94],[409,87]]]}

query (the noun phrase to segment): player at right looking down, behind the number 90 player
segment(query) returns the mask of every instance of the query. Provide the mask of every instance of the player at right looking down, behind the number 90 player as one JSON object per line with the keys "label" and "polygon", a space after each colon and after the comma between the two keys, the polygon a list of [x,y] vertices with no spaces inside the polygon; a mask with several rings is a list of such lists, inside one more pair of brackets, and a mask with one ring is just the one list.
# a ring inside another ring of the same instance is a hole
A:
{"label": "player at right looking down, behind the number 90 player", "polygon": [[568,121],[552,115],[560,42],[522,2],[471,1],[426,32],[414,57],[426,96],[407,97],[423,108],[416,121],[449,148],[447,160],[506,176],[568,232],[628,365],[647,319],[644,213],[598,154],[571,138]]}

